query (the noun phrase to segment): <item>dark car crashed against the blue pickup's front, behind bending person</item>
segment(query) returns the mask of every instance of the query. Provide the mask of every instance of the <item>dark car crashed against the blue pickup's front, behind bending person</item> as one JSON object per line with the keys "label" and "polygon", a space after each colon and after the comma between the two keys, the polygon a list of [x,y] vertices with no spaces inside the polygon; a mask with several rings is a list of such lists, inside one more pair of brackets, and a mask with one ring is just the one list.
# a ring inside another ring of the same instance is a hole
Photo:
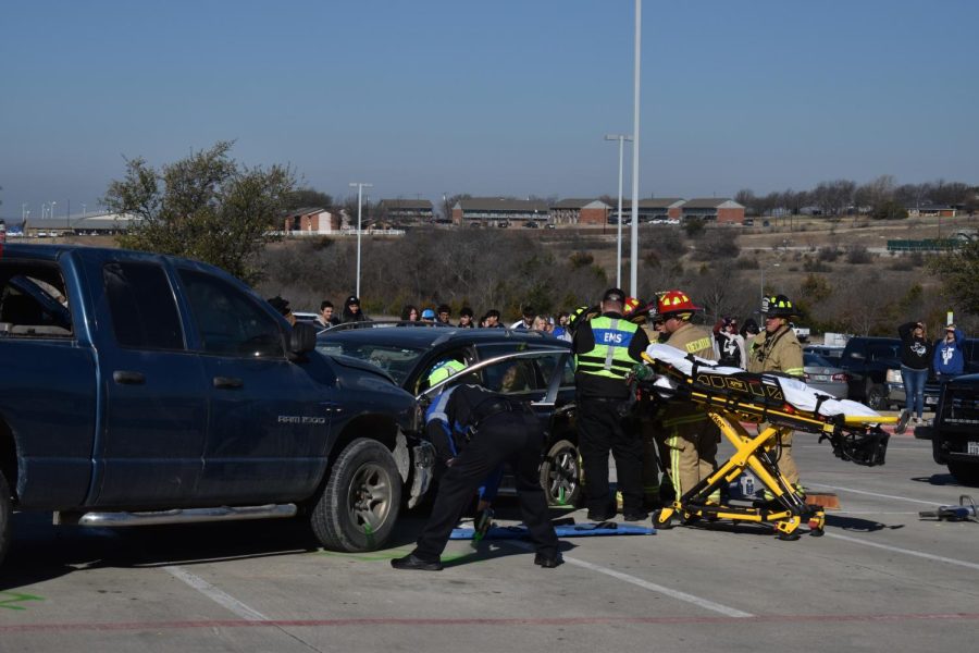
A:
{"label": "dark car crashed against the blue pickup's front, behind bending person", "polygon": [[575,504],[582,488],[570,344],[535,331],[398,324],[364,322],[352,329],[330,329],[317,336],[317,349],[369,361],[413,395],[424,392],[432,371],[448,360],[470,367],[517,352],[554,354],[486,367],[478,372],[479,381],[486,387],[498,390],[506,368],[519,365],[521,387],[510,392],[537,402],[544,398],[554,375],[560,374],[555,405],[546,412],[547,445],[541,484],[552,505]]}

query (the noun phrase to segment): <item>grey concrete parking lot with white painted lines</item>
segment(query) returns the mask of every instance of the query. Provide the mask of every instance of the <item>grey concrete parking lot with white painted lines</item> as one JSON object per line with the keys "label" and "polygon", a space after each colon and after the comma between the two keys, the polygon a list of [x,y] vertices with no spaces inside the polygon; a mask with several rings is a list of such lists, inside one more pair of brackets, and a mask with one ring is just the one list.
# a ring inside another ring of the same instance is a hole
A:
{"label": "grey concrete parking lot with white painted lines", "polygon": [[[360,555],[319,549],[296,520],[110,530],[16,515],[0,651],[971,649],[979,523],[918,512],[979,490],[910,436],[892,438],[875,468],[815,435],[795,447],[803,482],[840,498],[823,538],[722,523],[569,538],[557,569],[534,566],[519,541],[456,541],[443,571],[393,570],[423,514]],[[497,517],[515,523],[515,503]]]}

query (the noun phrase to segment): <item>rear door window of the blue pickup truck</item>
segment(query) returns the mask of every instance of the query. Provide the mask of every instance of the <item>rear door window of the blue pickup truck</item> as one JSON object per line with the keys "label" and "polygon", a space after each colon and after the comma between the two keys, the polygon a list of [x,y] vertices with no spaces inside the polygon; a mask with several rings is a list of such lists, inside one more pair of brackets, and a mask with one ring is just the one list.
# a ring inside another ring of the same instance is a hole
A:
{"label": "rear door window of the blue pickup truck", "polygon": [[173,289],[153,263],[111,262],[102,268],[115,342],[137,349],[183,349]]}

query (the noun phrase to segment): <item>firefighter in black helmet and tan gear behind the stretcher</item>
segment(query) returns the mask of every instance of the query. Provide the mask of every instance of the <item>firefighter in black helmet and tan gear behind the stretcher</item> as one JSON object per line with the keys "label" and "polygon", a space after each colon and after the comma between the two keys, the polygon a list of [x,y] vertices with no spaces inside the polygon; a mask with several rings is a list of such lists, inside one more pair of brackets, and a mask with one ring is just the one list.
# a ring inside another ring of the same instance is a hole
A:
{"label": "firefighter in black helmet and tan gear behind the stretcher", "polygon": [[[789,319],[797,315],[792,301],[785,295],[773,295],[763,299],[761,316],[765,318],[765,329],[751,341],[747,371],[774,372],[800,380],[805,378],[802,345],[789,325]],[[781,436],[779,470],[800,493],[803,493],[803,486],[798,483],[798,468],[792,456],[791,431]]]}

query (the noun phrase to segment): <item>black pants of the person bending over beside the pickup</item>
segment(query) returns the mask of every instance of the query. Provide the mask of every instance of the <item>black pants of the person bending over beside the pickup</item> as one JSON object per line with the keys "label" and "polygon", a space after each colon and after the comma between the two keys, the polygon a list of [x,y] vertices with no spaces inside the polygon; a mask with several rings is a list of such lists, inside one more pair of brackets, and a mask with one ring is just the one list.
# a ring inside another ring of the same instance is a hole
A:
{"label": "black pants of the person bending over beside the pickup", "polygon": [[544,433],[529,410],[497,412],[483,420],[478,433],[438,482],[432,516],[418,538],[414,555],[437,562],[472,495],[491,471],[509,463],[517,478],[523,522],[538,553],[557,554],[558,540],[547,517],[547,498],[540,483]]}

